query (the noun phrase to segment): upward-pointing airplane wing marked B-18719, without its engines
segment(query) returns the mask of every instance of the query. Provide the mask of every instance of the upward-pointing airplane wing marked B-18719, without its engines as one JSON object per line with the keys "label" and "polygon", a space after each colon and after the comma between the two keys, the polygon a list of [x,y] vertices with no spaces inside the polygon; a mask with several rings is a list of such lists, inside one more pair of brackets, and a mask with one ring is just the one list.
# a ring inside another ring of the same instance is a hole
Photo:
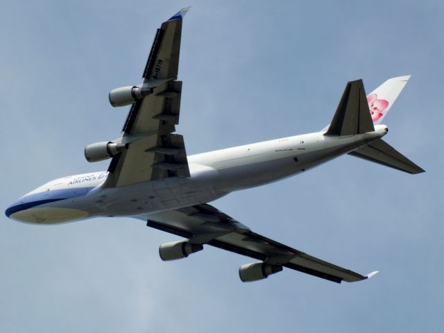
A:
{"label": "upward-pointing airplane wing marked B-18719, without its engines", "polygon": [[[179,122],[182,82],[178,76],[182,18],[180,10],[157,29],[142,75],[150,94],[130,108],[120,140],[128,148],[114,155],[104,187],[121,187],[172,176],[189,177]],[[118,142],[118,141],[117,141]]]}

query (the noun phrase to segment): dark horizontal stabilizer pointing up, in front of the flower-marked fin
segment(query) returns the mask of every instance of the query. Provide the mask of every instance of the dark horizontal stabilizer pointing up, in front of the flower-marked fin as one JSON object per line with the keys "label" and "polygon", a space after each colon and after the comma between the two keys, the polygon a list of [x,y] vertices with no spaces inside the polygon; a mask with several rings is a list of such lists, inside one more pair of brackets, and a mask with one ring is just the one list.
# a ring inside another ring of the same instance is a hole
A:
{"label": "dark horizontal stabilizer pointing up, in front of the flower-marked fin", "polygon": [[332,123],[325,135],[355,135],[374,130],[364,83],[362,80],[347,83]]}

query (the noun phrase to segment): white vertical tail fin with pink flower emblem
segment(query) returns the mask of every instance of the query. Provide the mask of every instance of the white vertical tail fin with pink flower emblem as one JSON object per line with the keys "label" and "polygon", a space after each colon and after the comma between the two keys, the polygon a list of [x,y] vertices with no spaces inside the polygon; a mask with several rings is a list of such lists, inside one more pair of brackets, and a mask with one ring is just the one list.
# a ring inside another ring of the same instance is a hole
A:
{"label": "white vertical tail fin with pink flower emblem", "polygon": [[402,89],[407,85],[410,76],[398,76],[391,78],[379,85],[373,92],[367,95],[368,108],[372,116],[373,123],[378,125],[386,117],[391,105],[395,103]]}

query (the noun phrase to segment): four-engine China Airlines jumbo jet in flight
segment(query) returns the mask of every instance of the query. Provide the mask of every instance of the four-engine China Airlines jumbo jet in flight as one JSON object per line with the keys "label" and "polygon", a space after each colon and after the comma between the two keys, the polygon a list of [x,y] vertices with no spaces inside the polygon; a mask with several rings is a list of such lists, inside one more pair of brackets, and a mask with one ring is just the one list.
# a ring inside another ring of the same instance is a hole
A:
{"label": "four-engine China Airlines jumbo jet in flight", "polygon": [[214,246],[256,259],[239,268],[243,282],[291,268],[341,283],[371,278],[280,244],[209,203],[232,191],[298,175],[344,154],[407,173],[423,169],[382,140],[382,119],[410,76],[386,80],[366,96],[362,80],[347,83],[332,122],[323,130],[188,156],[179,123],[178,78],[183,8],[155,33],[143,83],[112,89],[113,107],[130,105],[123,135],[89,144],[89,162],[110,159],[108,171],[47,182],[12,203],[10,219],[56,224],[96,216],[128,216],[183,239],[162,244],[162,260]]}

